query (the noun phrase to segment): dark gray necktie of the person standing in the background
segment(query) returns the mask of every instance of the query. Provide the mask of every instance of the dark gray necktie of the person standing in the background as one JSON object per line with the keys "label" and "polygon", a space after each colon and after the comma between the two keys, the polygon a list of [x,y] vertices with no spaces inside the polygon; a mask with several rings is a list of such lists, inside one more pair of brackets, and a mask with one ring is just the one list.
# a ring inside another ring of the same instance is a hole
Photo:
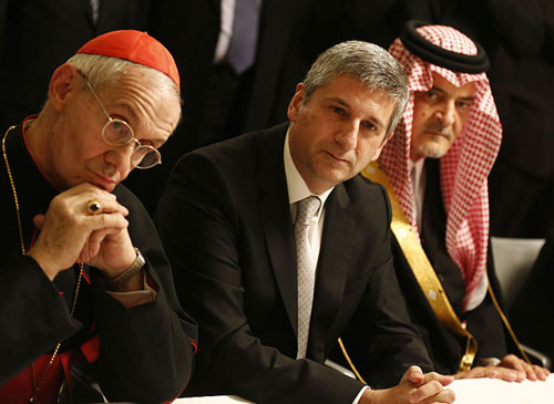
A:
{"label": "dark gray necktie of the person standing in the background", "polygon": [[236,0],[227,61],[240,74],[254,64],[258,39],[258,0]]}

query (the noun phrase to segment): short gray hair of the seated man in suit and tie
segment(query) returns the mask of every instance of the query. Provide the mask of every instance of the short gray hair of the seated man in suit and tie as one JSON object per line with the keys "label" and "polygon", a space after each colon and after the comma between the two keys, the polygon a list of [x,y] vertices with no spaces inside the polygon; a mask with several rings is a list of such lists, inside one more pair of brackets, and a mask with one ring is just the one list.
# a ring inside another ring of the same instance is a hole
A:
{"label": "short gray hair of the seated man in suit and tie", "polygon": [[328,85],[339,75],[349,75],[369,91],[386,91],[394,102],[387,130],[392,133],[408,103],[408,79],[402,65],[384,49],[363,41],[347,41],[329,48],[314,62],[304,79],[304,103],[317,87]]}

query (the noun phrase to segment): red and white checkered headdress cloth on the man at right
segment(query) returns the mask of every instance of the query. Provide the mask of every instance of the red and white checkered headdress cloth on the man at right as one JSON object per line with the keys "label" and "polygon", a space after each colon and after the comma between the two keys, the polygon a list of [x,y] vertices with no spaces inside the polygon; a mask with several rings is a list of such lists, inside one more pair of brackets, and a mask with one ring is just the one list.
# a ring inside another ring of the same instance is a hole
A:
{"label": "red and white checkered headdress cloth on the man at right", "polygon": [[[427,41],[463,55],[476,55],[478,46],[460,31],[444,25],[416,29]],[[456,86],[475,83],[474,102],[460,136],[440,162],[441,191],[447,211],[447,249],[461,268],[465,282],[464,309],[482,301],[486,289],[478,288],[486,267],[489,244],[489,191],[486,177],[499,153],[502,126],[485,73],[460,73],[425,62],[397,39],[389,52],[408,75],[410,100],[394,136],[383,148],[380,164],[387,173],[406,216],[419,236],[410,178],[413,94],[429,91],[435,72]]]}

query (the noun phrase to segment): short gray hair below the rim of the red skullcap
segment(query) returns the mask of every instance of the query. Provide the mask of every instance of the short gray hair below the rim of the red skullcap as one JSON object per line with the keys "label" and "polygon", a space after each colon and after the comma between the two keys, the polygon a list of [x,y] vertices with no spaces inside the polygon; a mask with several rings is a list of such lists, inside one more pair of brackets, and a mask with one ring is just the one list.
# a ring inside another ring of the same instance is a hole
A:
{"label": "short gray hair below the rim of the red skullcap", "polygon": [[[86,79],[89,79],[94,89],[115,85],[129,69],[143,69],[151,71],[154,74],[150,77],[152,77],[151,80],[153,81],[153,85],[156,91],[160,91],[163,94],[175,94],[176,100],[178,100],[181,104],[181,94],[175,82],[155,69],[124,59],[88,53],[76,53],[68,60],[68,63],[72,64],[81,73],[86,75]],[[83,85],[85,84],[83,83]]]}

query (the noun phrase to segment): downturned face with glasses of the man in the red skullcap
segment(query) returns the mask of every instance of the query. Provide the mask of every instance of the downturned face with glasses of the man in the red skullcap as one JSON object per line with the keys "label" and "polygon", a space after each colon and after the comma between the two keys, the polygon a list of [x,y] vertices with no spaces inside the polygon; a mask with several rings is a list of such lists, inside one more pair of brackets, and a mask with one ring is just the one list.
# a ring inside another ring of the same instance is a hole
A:
{"label": "downturned face with glasses of the man in the red skullcap", "polygon": [[[102,138],[105,114],[84,82],[75,89],[52,131],[50,147],[55,155],[49,177],[60,189],[86,182],[111,191],[134,168],[135,143],[107,145]],[[130,69],[116,85],[96,93],[107,114],[129,123],[143,145],[161,147],[178,123],[178,97],[156,89],[155,72]]]}

